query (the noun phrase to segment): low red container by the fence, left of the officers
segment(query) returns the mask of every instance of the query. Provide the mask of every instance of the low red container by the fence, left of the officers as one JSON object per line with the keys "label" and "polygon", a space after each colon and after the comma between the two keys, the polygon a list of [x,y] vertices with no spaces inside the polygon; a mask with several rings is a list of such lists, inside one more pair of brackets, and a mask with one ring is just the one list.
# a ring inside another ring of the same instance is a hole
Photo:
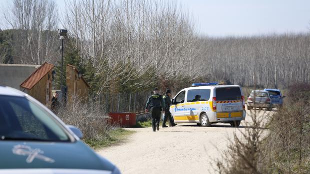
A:
{"label": "low red container by the fence, left of the officers", "polygon": [[109,112],[108,116],[112,118],[112,124],[117,124],[120,127],[132,127],[135,125],[135,113]]}

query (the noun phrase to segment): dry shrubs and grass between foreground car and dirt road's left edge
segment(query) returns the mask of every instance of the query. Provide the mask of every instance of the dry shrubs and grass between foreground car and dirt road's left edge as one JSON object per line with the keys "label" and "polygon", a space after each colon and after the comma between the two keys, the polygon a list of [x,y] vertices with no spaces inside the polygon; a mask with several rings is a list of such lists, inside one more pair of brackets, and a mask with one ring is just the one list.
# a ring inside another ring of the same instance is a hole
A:
{"label": "dry shrubs and grass between foreground car and dirt road's left edge", "polygon": [[83,133],[83,141],[94,150],[125,141],[134,133],[112,125],[110,118],[98,103],[85,103],[77,97],[65,107],[55,108],[57,116],[67,125],[73,125]]}

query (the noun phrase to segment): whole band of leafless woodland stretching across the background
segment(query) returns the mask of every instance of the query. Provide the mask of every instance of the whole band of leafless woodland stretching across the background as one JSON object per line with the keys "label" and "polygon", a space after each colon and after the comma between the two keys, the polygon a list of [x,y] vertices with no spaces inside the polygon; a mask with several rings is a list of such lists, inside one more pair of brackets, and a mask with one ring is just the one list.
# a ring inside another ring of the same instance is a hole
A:
{"label": "whole band of leafless woodland stretching across the background", "polygon": [[285,89],[310,81],[309,33],[201,36],[167,0],[65,0],[64,9],[59,15],[54,0],[12,0],[1,14],[10,29],[0,30],[0,63],[53,63],[60,89],[61,23],[64,64],[78,67],[89,99],[107,112],[143,109],[153,87],[175,94],[193,82]]}

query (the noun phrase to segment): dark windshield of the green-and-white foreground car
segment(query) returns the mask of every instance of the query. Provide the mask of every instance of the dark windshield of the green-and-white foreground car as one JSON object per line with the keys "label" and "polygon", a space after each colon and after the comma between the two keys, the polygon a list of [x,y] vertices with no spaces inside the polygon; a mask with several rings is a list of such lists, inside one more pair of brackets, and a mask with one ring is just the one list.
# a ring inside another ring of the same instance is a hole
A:
{"label": "dark windshield of the green-and-white foreground car", "polygon": [[43,108],[25,97],[0,95],[0,140],[69,141]]}

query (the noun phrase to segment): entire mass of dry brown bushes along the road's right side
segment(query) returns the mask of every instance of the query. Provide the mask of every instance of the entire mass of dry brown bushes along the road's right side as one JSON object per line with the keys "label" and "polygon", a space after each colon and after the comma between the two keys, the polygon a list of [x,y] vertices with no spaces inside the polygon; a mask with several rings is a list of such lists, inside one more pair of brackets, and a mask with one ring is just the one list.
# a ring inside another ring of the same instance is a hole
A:
{"label": "entire mass of dry brown bushes along the road's right side", "polygon": [[220,174],[310,173],[310,85],[292,85],[286,95],[267,123],[251,111],[251,128],[235,135],[217,162]]}

